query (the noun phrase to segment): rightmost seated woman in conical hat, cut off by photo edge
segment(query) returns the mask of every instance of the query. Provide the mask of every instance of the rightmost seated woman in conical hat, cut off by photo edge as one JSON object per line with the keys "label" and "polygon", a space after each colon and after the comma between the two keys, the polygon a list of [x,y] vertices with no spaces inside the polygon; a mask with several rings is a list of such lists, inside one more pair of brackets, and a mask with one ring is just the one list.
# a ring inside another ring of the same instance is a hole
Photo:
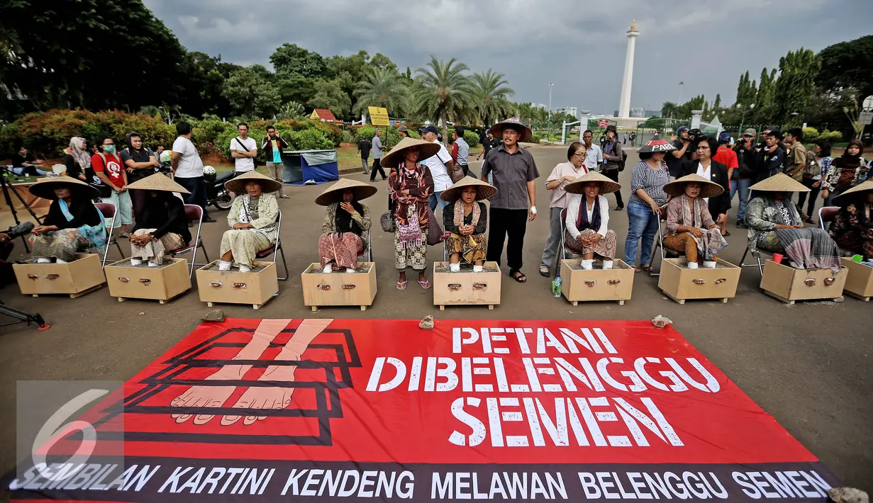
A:
{"label": "rightmost seated woman in conical hat, cut off by photo edge", "polygon": [[852,187],[835,197],[840,211],[828,234],[840,248],[873,260],[873,180]]}

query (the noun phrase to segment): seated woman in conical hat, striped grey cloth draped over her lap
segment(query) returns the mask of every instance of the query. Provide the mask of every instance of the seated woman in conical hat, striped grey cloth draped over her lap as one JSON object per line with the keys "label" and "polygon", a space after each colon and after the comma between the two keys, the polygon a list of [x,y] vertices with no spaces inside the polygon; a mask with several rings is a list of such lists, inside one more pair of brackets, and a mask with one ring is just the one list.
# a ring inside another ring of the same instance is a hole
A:
{"label": "seated woman in conical hat, striped grey cloth draped over her lap", "polygon": [[791,193],[808,192],[799,181],[784,173],[756,183],[746,207],[749,251],[758,249],[787,255],[793,268],[831,269],[840,272],[840,248],[821,228],[805,228]]}

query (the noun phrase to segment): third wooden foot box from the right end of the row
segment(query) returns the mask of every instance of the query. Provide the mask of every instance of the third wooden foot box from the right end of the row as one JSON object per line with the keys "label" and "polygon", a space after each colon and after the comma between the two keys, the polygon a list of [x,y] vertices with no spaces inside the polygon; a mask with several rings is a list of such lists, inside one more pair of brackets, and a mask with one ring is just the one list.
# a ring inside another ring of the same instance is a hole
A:
{"label": "third wooden foot box from the right end of the row", "polygon": [[689,299],[727,302],[727,299],[737,296],[741,269],[721,259],[716,262],[723,267],[690,269],[686,267],[688,261],[684,257],[664,259],[657,287],[680,304]]}

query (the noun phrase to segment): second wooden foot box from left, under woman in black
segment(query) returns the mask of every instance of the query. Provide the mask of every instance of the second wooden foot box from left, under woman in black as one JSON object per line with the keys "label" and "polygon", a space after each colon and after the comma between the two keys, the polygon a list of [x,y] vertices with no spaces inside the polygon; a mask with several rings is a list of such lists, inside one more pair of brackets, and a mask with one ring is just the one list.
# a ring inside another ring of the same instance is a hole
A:
{"label": "second wooden foot box from left, under woman in black", "polygon": [[164,303],[191,289],[185,259],[165,258],[160,266],[150,268],[146,262],[134,267],[127,258],[107,265],[103,272],[107,275],[109,295],[118,297],[118,302],[150,299]]}

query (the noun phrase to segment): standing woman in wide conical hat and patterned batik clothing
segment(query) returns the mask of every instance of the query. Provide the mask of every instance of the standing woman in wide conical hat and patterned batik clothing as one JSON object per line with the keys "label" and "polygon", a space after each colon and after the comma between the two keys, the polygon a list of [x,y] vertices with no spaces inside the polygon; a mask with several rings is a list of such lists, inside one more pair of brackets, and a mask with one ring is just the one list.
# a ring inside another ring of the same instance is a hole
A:
{"label": "standing woman in wide conical hat and patterned batik clothing", "polygon": [[418,284],[430,289],[428,276],[428,198],[434,192],[434,179],[426,164],[420,162],[439,152],[440,144],[423,139],[404,138],[382,158],[382,167],[390,169],[388,194],[395,202],[394,255],[399,273],[397,289],[406,289],[406,268],[418,271]]}

